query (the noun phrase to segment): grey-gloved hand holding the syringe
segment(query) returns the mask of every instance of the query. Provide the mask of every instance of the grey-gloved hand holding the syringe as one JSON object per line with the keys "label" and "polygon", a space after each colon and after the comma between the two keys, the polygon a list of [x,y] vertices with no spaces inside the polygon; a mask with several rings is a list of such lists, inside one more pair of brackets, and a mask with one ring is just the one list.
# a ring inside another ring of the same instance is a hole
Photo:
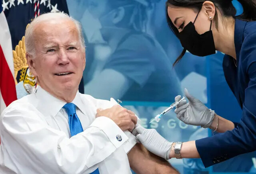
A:
{"label": "grey-gloved hand holding the syringe", "polygon": [[[178,119],[188,125],[196,125],[204,128],[210,127],[214,119],[214,111],[208,109],[200,100],[194,98],[188,93],[188,90],[184,90],[188,102],[180,102],[176,109]],[[180,96],[175,97],[175,101],[179,100]]]}

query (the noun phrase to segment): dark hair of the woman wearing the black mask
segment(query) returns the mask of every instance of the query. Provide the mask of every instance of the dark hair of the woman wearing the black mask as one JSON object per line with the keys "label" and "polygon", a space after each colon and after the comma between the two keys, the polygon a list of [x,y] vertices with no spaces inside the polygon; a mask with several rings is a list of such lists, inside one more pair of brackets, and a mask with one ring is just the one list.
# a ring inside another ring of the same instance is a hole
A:
{"label": "dark hair of the woman wearing the black mask", "polygon": [[[202,8],[203,3],[206,0],[167,0],[166,2],[166,19],[170,29],[172,29],[173,33],[178,36],[178,29],[174,26],[172,21],[168,16],[168,6],[176,6],[176,7],[186,7],[193,8],[195,11],[199,12]],[[224,17],[233,17],[236,19],[244,20],[244,21],[255,21],[256,20],[256,1],[255,0],[238,0],[240,4],[243,6],[244,12],[238,16],[236,15],[236,8],[232,4],[232,0],[209,0],[211,1],[218,10],[220,10],[222,16]],[[215,13],[214,16],[215,26],[218,29],[218,13]],[[173,66],[176,65],[182,59],[184,54],[186,53],[186,49],[183,49],[180,56],[173,63]]]}

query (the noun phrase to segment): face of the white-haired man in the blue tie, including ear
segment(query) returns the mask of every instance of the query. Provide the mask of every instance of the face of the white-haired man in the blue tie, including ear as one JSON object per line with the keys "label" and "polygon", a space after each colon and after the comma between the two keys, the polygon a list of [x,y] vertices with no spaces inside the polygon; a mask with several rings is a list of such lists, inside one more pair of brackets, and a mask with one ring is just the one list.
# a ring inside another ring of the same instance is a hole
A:
{"label": "face of the white-haired man in the blue tie, including ear", "polygon": [[29,59],[40,86],[55,96],[78,90],[85,68],[85,50],[76,25],[68,19],[41,22],[34,30],[36,55]]}

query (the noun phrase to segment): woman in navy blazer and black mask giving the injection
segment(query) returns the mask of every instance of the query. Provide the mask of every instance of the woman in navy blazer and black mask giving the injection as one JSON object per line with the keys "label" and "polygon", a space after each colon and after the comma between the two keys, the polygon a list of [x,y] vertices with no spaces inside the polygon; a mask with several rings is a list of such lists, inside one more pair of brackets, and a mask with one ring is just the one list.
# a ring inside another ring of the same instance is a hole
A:
{"label": "woman in navy blazer and black mask giving the injection", "polygon": [[[226,81],[242,108],[240,123],[208,109],[185,89],[188,98],[175,109],[186,124],[210,128],[219,134],[189,142],[166,141],[154,129],[136,126],[133,133],[148,150],[169,159],[201,158],[205,167],[256,150],[256,2],[238,0],[244,9],[235,16],[232,0],[168,0],[166,17],[184,50],[197,56],[225,53]],[[178,100],[177,96],[175,100]]]}

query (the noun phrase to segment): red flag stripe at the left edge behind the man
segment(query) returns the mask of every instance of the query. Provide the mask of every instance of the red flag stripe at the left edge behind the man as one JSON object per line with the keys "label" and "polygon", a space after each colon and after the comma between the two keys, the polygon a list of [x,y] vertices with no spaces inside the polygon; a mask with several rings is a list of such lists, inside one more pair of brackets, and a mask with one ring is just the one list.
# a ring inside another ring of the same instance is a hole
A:
{"label": "red flag stripe at the left edge behind the man", "polygon": [[0,90],[6,107],[17,100],[16,88],[12,72],[4,57],[4,52],[0,45]]}

